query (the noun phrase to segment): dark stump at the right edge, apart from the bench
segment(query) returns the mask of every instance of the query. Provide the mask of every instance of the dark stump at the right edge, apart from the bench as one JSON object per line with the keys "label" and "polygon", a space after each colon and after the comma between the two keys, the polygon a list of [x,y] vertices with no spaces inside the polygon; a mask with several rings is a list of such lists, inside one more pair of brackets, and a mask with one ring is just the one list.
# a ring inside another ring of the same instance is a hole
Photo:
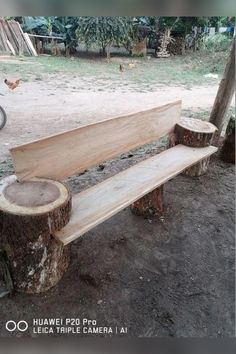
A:
{"label": "dark stump at the right edge, apart from the bench", "polygon": [[235,164],[235,118],[229,120],[225,140],[220,152],[223,161]]}

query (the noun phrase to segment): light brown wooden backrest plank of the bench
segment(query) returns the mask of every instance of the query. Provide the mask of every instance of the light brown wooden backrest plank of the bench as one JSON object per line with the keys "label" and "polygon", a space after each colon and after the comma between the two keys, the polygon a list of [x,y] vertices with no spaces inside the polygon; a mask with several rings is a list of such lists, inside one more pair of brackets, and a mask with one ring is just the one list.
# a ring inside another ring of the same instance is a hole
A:
{"label": "light brown wooden backrest plank of the bench", "polygon": [[181,101],[89,124],[10,150],[19,180],[63,180],[171,132]]}

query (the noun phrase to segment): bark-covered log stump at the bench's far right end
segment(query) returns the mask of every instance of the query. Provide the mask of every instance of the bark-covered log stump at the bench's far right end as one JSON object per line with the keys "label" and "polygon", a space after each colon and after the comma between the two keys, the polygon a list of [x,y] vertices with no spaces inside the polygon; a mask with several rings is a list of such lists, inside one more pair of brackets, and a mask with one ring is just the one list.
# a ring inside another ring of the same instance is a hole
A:
{"label": "bark-covered log stump at the bench's far right end", "polygon": [[[175,127],[176,144],[183,144],[191,147],[206,147],[211,145],[214,133],[217,128],[200,119],[182,117],[180,123]],[[210,157],[206,157],[192,167],[187,168],[183,173],[188,176],[198,177],[207,172]]]}

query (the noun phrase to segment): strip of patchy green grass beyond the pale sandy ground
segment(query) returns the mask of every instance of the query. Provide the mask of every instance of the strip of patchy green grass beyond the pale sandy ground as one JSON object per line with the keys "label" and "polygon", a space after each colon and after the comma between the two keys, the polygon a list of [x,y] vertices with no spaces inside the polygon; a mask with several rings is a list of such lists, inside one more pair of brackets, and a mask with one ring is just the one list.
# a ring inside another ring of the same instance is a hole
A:
{"label": "strip of patchy green grass beyond the pale sandy ground", "polygon": [[[121,87],[128,84],[136,90],[138,88],[147,92],[162,85],[183,85],[190,88],[194,85],[218,83],[227,56],[228,52],[225,51],[198,52],[163,59],[136,58],[136,67],[132,70],[128,68],[128,63],[133,59],[127,57],[114,57],[108,63],[105,59],[99,58],[39,56],[25,57],[22,59],[25,63],[22,64],[0,62],[0,70],[4,77],[20,77],[25,81],[59,78],[64,83],[76,79],[83,83],[84,89],[96,86],[97,83],[104,90],[114,90],[114,84]],[[123,75],[119,72],[119,63],[125,66]],[[205,78],[204,75],[208,73],[217,73],[219,78]]]}

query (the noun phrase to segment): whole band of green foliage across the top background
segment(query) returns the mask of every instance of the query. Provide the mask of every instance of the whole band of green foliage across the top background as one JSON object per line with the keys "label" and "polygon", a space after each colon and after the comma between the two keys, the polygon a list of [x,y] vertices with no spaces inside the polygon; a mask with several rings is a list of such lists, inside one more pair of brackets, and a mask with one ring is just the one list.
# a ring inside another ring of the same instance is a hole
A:
{"label": "whole band of green foliage across the top background", "polygon": [[103,53],[109,54],[112,45],[124,45],[130,50],[135,42],[144,38],[152,48],[158,47],[161,33],[169,29],[171,34],[186,38],[186,47],[194,50],[223,51],[227,49],[229,39],[224,35],[212,37],[198,34],[195,37],[192,27],[216,27],[233,25],[234,17],[160,17],[160,16],[25,16],[5,17],[21,23],[23,30],[38,35],[55,35],[62,38],[66,53],[76,51],[79,42],[87,47],[99,46]]}

